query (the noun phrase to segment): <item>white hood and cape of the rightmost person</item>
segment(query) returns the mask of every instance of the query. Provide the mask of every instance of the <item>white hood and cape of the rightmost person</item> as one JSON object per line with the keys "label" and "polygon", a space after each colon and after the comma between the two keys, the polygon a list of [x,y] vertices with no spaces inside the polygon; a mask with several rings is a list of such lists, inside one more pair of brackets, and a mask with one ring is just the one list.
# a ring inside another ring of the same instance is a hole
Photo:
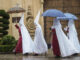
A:
{"label": "white hood and cape of the rightmost person", "polygon": [[80,53],[80,43],[79,43],[79,39],[77,36],[77,31],[74,25],[74,20],[69,20],[68,21],[68,28],[69,28],[69,32],[68,32],[68,37],[69,40],[71,40],[71,42],[74,44],[75,48],[79,51]]}

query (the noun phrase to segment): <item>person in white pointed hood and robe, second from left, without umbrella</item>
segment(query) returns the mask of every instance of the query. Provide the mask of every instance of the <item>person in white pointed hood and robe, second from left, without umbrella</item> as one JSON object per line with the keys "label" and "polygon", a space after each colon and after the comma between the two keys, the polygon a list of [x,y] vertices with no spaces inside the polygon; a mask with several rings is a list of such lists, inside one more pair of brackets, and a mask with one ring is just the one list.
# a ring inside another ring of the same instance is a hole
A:
{"label": "person in white pointed hood and robe, second from left, without umbrella", "polygon": [[36,26],[35,37],[34,37],[34,53],[44,54],[48,51],[47,43],[44,39],[42,28],[39,22],[40,11],[38,12],[34,24]]}

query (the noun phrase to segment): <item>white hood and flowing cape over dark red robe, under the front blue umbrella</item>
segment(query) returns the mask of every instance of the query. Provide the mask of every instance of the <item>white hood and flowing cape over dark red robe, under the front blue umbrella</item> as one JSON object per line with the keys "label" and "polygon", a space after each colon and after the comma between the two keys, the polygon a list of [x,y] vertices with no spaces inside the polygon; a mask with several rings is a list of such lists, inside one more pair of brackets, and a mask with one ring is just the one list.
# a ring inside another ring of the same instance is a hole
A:
{"label": "white hood and flowing cape over dark red robe, under the front blue umbrella", "polygon": [[74,45],[68,40],[67,36],[62,30],[62,26],[59,20],[54,20],[53,27],[56,30],[56,35],[58,38],[58,43],[60,47],[61,57],[67,57],[74,53],[78,53]]}

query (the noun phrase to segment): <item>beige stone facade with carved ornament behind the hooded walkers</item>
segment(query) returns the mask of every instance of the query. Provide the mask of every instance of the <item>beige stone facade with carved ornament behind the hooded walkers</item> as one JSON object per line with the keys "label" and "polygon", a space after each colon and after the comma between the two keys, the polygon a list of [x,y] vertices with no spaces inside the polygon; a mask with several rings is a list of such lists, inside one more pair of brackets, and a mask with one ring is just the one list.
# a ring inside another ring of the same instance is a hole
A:
{"label": "beige stone facade with carved ornament behind the hooded walkers", "polygon": [[[28,28],[32,38],[34,39],[34,33],[35,33],[35,26],[34,26],[34,19],[38,13],[38,11],[41,9],[41,13],[43,12],[43,0],[0,0],[0,10],[3,9],[6,12],[10,8],[15,7],[16,5],[19,5],[19,7],[25,9],[24,12],[24,23],[26,27]],[[9,35],[14,36],[17,40],[19,38],[18,31],[15,28],[15,24],[19,24],[18,20],[21,17],[21,13],[13,13],[10,14],[10,24],[9,24]],[[16,21],[17,19],[17,21]],[[42,28],[44,28],[44,21],[43,18],[40,17],[40,24]]]}

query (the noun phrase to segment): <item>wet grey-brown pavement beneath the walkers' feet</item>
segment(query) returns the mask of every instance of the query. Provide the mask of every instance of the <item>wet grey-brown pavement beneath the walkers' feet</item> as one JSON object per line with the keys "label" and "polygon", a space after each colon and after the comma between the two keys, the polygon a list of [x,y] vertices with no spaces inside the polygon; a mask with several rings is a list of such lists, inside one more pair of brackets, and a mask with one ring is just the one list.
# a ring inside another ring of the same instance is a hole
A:
{"label": "wet grey-brown pavement beneath the walkers' feet", "polygon": [[80,60],[80,55],[67,58],[56,58],[51,55],[46,56],[23,56],[22,54],[0,54],[0,60]]}

